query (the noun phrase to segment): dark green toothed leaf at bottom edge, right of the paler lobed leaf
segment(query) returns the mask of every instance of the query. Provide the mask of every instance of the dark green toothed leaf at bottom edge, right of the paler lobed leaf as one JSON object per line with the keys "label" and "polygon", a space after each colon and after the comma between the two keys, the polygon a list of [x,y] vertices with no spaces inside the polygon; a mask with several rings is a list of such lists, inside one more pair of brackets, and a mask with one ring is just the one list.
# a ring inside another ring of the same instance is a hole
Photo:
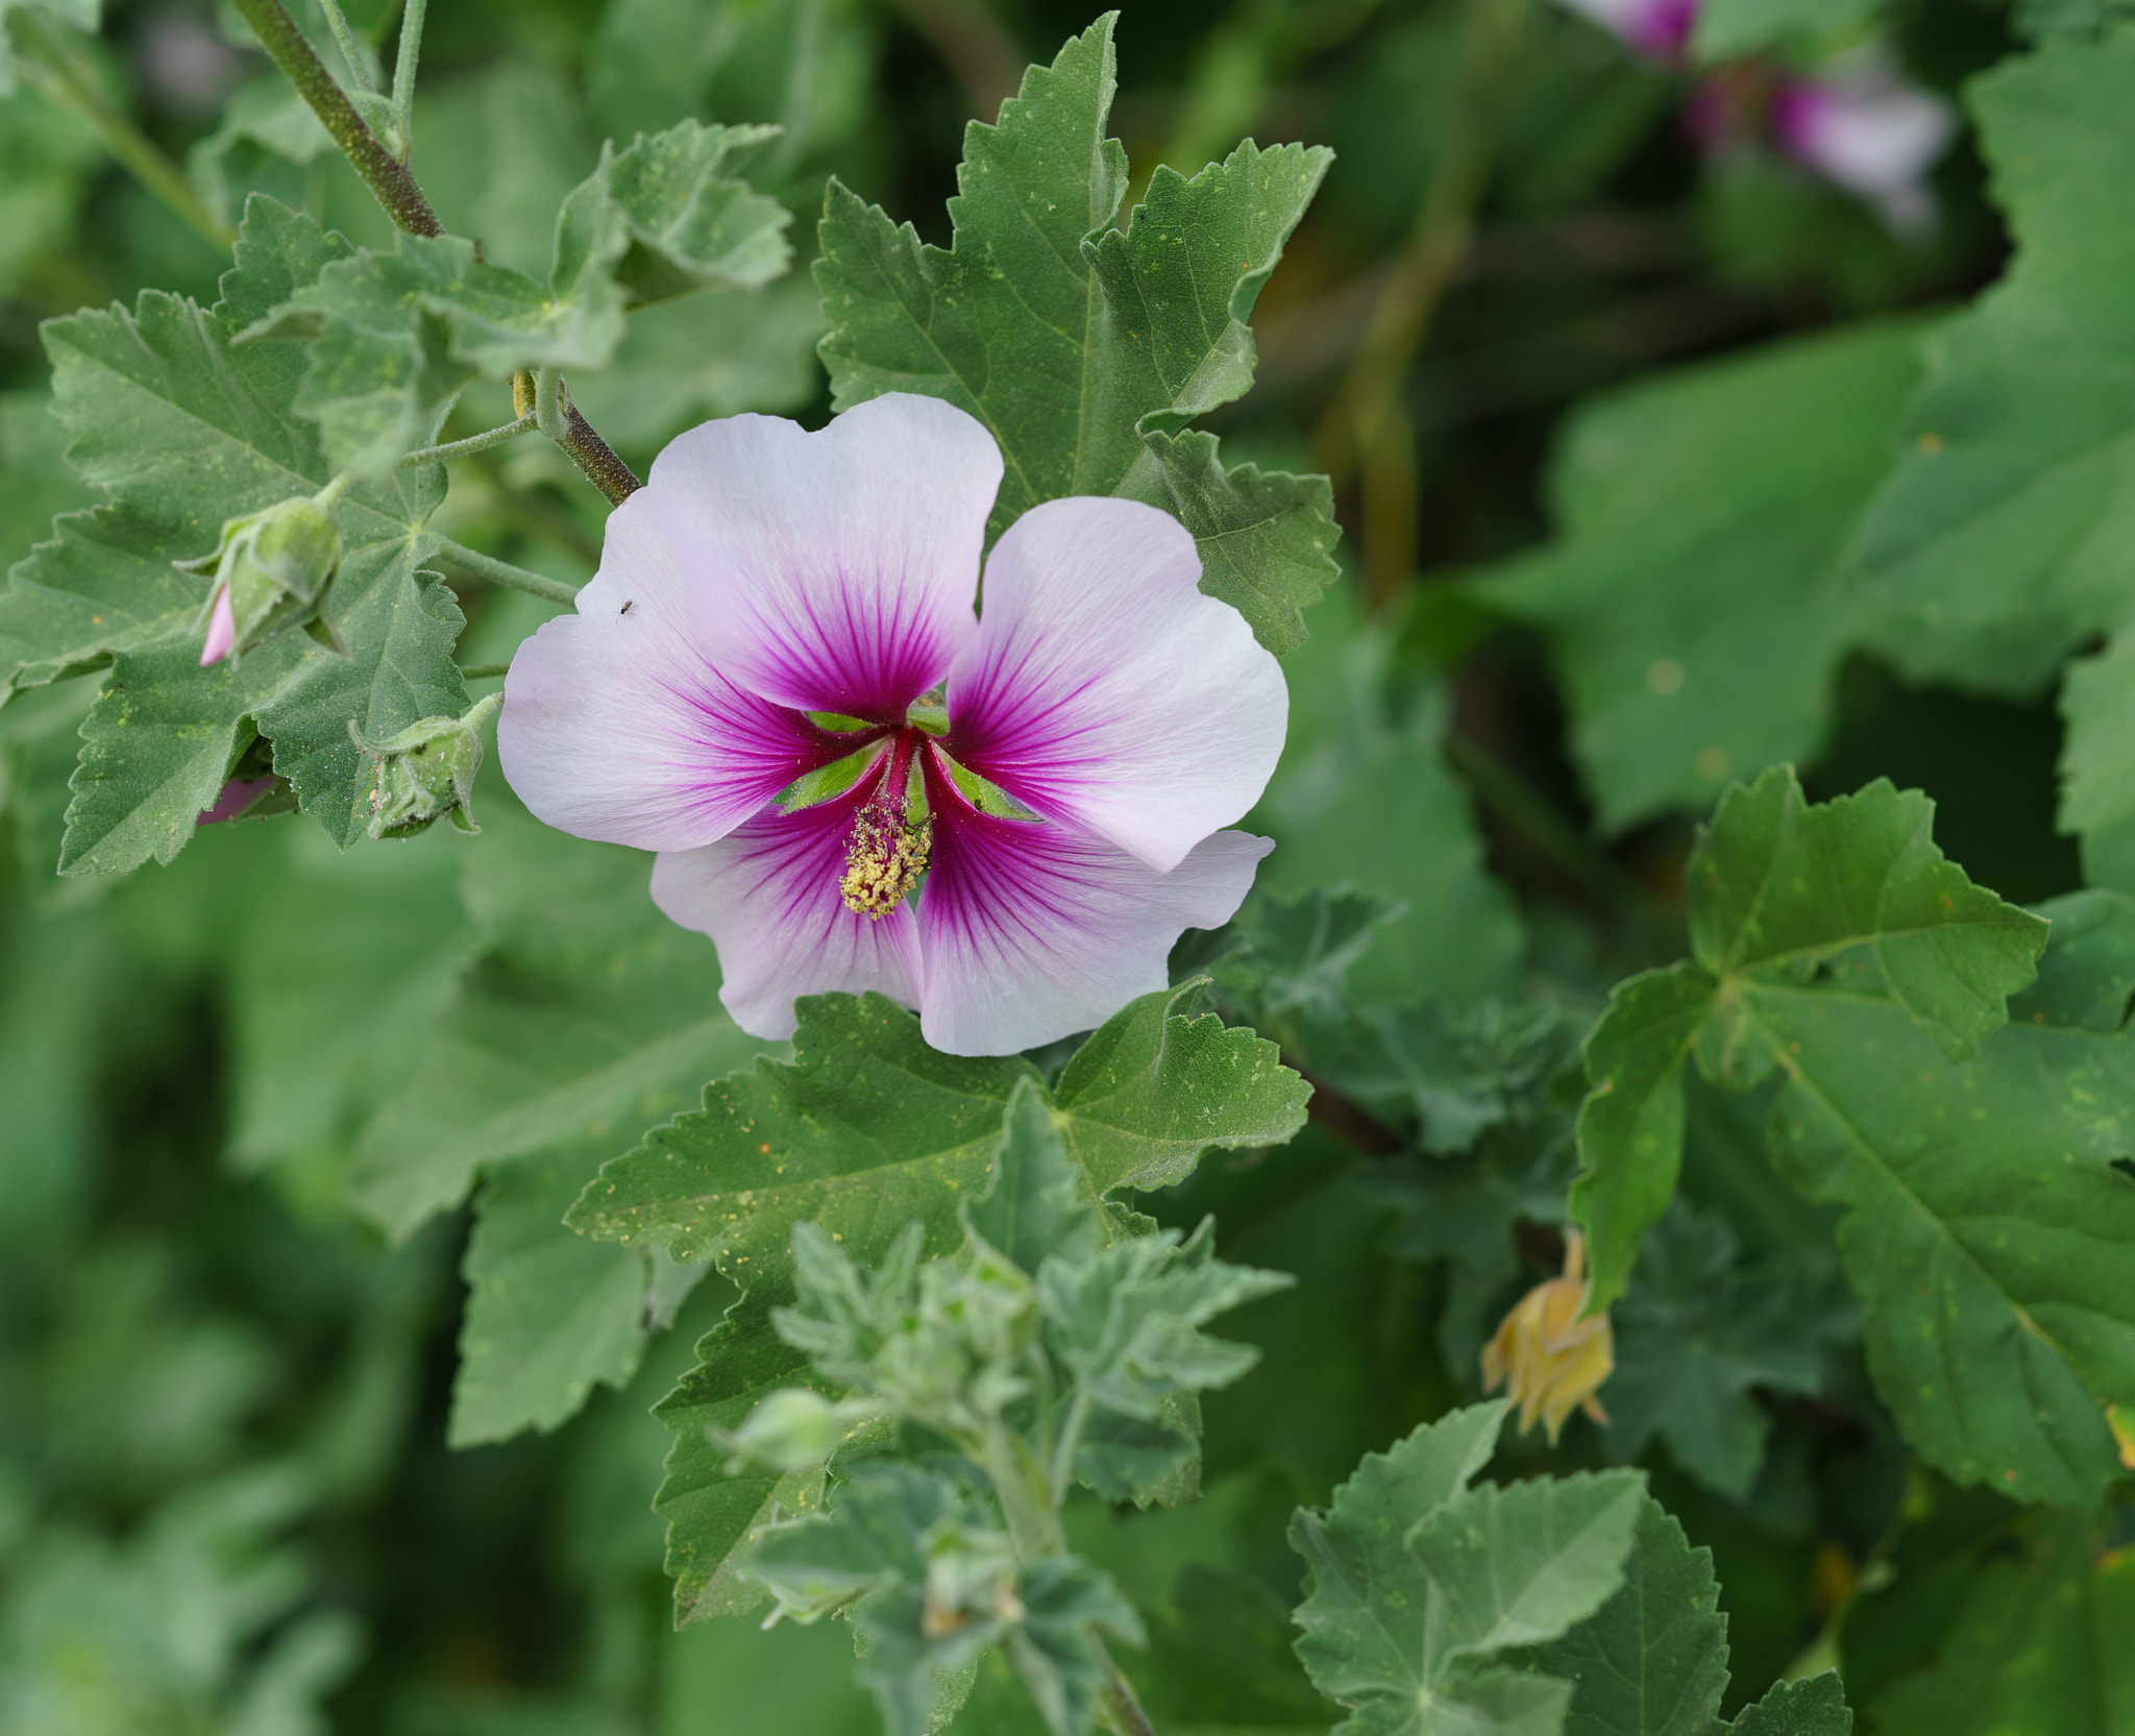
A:
{"label": "dark green toothed leaf at bottom edge, right of the paler lobed leaf", "polygon": [[1565,1736],[1710,1736],[1727,1689],[1719,1601],[1712,1550],[1693,1550],[1661,1503],[1644,1497],[1623,1587],[1535,1655],[1571,1683]]}

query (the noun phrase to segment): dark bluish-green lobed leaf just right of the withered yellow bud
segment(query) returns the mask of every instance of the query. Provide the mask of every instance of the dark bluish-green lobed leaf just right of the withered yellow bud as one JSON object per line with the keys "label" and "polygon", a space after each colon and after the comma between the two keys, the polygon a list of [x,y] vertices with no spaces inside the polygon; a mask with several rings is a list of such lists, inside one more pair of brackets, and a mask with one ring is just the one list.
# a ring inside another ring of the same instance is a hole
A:
{"label": "dark bluish-green lobed leaf just right of the withered yellow bud", "polygon": [[1823,1392],[1828,1350],[1860,1335],[1860,1313],[1836,1260],[1744,1260],[1721,1213],[1678,1200],[1646,1236],[1612,1328],[1610,1450],[1638,1458],[1659,1435],[1685,1471],[1744,1501],[1772,1433],[1751,1388]]}

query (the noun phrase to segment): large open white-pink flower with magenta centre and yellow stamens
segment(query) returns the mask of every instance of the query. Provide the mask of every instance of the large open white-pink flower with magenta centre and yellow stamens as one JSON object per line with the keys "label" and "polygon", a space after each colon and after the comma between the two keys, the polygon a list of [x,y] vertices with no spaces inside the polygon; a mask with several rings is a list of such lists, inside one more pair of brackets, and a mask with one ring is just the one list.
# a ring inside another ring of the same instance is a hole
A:
{"label": "large open white-pink flower with magenta centre and yellow stamens", "polygon": [[1161,989],[1272,848],[1225,826],[1275,771],[1283,675],[1200,594],[1193,538],[1046,502],[986,557],[976,617],[999,483],[986,429],[931,397],[820,433],[705,423],[512,660],[512,788],[660,852],[655,903],[717,944],[754,1036],[869,989],[952,1055],[1087,1029]]}

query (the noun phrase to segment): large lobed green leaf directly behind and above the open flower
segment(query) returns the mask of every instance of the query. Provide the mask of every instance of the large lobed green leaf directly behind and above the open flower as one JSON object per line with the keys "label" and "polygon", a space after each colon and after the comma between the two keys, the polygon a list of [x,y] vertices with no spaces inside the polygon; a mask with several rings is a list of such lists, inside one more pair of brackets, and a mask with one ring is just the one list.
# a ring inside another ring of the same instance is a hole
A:
{"label": "large lobed green leaf directly behind and above the open flower", "polygon": [[833,401],[920,391],[978,416],[1008,461],[995,534],[1061,495],[1176,512],[1202,547],[1202,589],[1287,651],[1334,577],[1332,495],[1319,478],[1228,470],[1213,436],[1185,427],[1251,384],[1253,299],[1330,154],[1245,143],[1193,179],[1159,167],[1117,228],[1112,23],[1033,66],[997,126],[967,128],[948,252],[831,184],[816,282]]}

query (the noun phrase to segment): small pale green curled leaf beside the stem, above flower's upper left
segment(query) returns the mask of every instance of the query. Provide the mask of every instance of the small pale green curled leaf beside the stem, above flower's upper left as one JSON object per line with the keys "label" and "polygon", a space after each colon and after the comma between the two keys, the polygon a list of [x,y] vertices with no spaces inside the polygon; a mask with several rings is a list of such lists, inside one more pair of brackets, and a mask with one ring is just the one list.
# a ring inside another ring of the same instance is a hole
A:
{"label": "small pale green curled leaf beside the stem, above flower's upper left", "polygon": [[[700,126],[685,120],[630,149],[600,149],[600,167],[557,218],[553,290],[606,269],[628,307],[713,288],[762,288],[792,265],[779,201],[732,171],[756,160],[775,126]],[[726,173],[722,173],[726,171]]]}

